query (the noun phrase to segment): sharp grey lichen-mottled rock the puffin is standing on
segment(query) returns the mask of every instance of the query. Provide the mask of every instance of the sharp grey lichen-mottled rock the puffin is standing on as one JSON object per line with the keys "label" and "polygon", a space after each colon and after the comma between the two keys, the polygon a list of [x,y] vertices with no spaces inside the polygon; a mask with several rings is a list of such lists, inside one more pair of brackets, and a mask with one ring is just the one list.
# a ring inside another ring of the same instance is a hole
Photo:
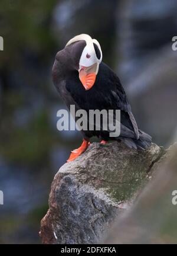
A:
{"label": "sharp grey lichen-mottled rock the puffin is standing on", "polygon": [[114,218],[145,187],[165,150],[129,149],[123,143],[92,143],[54,177],[49,210],[41,220],[44,244],[96,244]]}

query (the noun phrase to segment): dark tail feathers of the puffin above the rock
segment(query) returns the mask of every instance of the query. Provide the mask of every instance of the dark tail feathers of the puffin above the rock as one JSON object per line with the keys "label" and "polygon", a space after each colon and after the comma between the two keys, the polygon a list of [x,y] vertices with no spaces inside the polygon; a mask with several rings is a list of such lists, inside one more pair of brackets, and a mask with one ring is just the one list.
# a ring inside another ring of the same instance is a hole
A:
{"label": "dark tail feathers of the puffin above the rock", "polygon": [[152,137],[148,133],[139,130],[139,139],[132,139],[130,137],[119,137],[129,148],[146,149],[149,148],[152,143]]}

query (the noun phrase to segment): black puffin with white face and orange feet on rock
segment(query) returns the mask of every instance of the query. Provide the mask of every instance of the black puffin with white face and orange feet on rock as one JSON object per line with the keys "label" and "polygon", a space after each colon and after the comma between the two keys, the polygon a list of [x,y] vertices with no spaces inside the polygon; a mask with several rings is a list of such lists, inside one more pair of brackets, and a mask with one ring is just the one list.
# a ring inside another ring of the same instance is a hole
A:
{"label": "black puffin with white face and orange feet on rock", "polygon": [[55,56],[53,84],[69,109],[75,105],[76,110],[86,110],[87,113],[89,110],[120,110],[119,136],[110,137],[110,131],[103,130],[103,127],[100,130],[81,130],[83,142],[78,149],[71,151],[67,162],[85,152],[93,136],[100,139],[101,145],[117,140],[132,149],[145,150],[152,143],[152,137],[138,129],[119,77],[102,58],[99,41],[88,34],[73,37]]}

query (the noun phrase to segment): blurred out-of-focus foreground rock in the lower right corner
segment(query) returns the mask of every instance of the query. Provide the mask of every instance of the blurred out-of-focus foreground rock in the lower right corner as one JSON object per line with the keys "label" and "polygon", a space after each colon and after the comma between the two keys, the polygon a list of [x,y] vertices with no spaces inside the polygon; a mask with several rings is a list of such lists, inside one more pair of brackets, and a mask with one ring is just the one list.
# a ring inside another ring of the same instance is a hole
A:
{"label": "blurred out-of-focus foreground rock in the lower right corner", "polygon": [[104,244],[177,243],[177,143],[166,153],[156,177],[143,189],[131,209],[118,216]]}

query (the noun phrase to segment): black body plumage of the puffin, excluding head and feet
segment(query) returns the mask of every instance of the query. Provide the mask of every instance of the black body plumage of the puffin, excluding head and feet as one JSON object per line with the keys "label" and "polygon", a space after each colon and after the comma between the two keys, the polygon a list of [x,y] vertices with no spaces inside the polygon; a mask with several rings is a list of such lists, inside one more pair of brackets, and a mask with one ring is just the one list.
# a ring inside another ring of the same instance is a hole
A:
{"label": "black body plumage of the puffin, excluding head and feet", "polygon": [[[65,47],[57,53],[53,66],[53,82],[61,97],[70,108],[76,105],[76,110],[121,110],[120,136],[109,137],[109,131],[82,131],[84,138],[92,136],[103,140],[122,140],[130,148],[148,148],[151,137],[137,128],[126,93],[117,75],[103,62],[93,87],[86,91],[78,78],[78,63],[86,46],[85,41],[78,41]],[[94,46],[98,52],[97,46]]]}

